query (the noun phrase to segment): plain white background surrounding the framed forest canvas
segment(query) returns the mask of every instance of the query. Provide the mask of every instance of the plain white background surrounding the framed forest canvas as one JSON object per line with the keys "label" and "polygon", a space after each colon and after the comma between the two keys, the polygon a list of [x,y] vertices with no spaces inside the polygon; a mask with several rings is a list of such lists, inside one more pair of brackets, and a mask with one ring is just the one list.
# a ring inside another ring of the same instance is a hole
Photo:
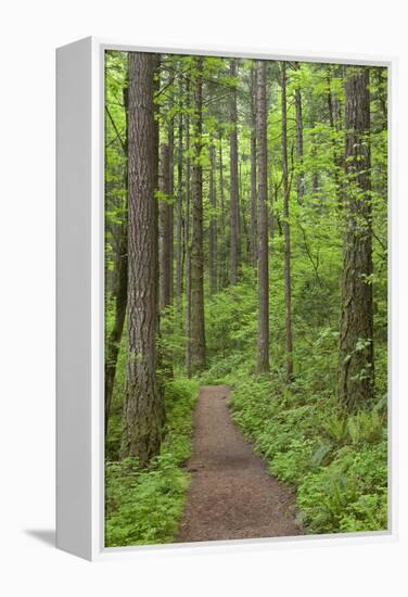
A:
{"label": "plain white background surrounding the framed forest canvas", "polygon": [[[404,1],[14,0],[1,15],[2,595],[407,595],[407,111]],[[89,35],[136,45],[399,56],[399,541],[90,564],[50,545],[54,520],[54,49]],[[405,379],[404,379],[405,378]],[[42,541],[41,541],[42,537]],[[46,539],[46,541],[43,541]]]}

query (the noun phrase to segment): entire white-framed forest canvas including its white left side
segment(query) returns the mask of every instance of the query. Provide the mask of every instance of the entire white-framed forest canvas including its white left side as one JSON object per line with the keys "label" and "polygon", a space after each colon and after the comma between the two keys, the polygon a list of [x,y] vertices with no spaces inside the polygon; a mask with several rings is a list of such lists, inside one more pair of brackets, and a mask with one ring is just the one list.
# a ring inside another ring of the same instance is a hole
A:
{"label": "entire white-framed forest canvas including its white left side", "polygon": [[61,549],[395,538],[395,67],[58,50]]}

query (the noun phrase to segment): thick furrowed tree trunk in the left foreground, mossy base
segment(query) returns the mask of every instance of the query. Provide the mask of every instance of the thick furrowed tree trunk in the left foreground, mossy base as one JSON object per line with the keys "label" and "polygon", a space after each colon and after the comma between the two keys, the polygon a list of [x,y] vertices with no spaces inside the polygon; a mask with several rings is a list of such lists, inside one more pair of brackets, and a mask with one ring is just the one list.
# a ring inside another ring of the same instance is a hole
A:
{"label": "thick furrowed tree trunk in the left foreground, mossy base", "polygon": [[142,466],[160,450],[163,403],[157,385],[156,56],[129,54],[128,363],[122,456]]}

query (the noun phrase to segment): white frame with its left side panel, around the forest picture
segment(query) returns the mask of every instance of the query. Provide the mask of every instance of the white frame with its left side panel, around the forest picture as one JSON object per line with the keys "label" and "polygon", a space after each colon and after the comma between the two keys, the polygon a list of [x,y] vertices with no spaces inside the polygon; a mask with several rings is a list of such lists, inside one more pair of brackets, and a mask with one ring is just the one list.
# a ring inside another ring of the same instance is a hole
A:
{"label": "white frame with its left side panel, around the forest picture", "polygon": [[[366,64],[388,69],[388,508],[387,531],[146,547],[104,547],[104,52],[155,51]],[[56,51],[56,545],[88,560],[161,549],[308,547],[397,537],[395,58],[238,47],[140,47],[86,38]]]}

